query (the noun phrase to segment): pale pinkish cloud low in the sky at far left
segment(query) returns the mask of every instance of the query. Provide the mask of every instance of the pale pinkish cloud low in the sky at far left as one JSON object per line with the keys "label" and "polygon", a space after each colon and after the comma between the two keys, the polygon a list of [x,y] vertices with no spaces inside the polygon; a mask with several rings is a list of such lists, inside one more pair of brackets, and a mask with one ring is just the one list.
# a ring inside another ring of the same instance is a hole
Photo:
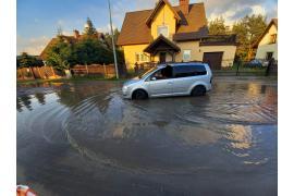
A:
{"label": "pale pinkish cloud low in the sky at far left", "polygon": [[17,35],[17,54],[27,52],[33,56],[39,56],[44,48],[49,42],[50,38],[47,36],[23,38]]}

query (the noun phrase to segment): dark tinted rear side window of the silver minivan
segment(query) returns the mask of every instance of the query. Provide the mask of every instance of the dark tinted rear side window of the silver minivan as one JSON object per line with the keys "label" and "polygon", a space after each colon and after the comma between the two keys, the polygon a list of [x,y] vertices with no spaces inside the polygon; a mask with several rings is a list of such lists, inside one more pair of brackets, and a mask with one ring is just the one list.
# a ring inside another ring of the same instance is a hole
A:
{"label": "dark tinted rear side window of the silver minivan", "polygon": [[173,68],[173,76],[176,77],[191,77],[197,75],[206,75],[207,71],[204,65],[180,65]]}

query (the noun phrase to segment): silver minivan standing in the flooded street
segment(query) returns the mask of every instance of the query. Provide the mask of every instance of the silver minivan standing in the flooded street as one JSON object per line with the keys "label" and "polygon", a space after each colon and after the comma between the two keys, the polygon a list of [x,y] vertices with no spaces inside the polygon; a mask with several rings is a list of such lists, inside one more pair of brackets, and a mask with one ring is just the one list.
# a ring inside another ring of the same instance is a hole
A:
{"label": "silver minivan standing in the flooded street", "polygon": [[159,64],[124,83],[124,98],[204,96],[211,90],[212,73],[206,63]]}

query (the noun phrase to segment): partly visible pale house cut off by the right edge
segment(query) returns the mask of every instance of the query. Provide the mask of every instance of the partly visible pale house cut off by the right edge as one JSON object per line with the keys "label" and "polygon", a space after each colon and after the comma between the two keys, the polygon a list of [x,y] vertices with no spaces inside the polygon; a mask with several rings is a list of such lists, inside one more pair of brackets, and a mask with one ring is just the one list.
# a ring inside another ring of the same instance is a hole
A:
{"label": "partly visible pale house cut off by the right edge", "polygon": [[273,58],[278,60],[278,19],[270,21],[254,47],[257,48],[255,59],[270,60]]}

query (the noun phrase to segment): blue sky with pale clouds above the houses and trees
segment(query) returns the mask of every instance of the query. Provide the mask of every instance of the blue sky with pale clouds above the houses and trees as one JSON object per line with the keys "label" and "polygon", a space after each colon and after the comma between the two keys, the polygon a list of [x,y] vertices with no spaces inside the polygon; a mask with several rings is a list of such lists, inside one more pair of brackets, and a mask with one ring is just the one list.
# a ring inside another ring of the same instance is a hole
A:
{"label": "blue sky with pale clouds above the houses and trees", "polygon": [[[152,9],[157,0],[111,0],[113,26],[121,29],[124,15],[130,11]],[[232,25],[246,14],[264,14],[268,22],[278,17],[278,0],[191,0],[204,2],[208,21],[224,17]],[[170,0],[174,5],[179,0]],[[62,28],[64,35],[73,29],[81,33],[89,17],[99,30],[109,32],[107,0],[17,0],[17,54],[25,51],[39,54],[48,41]]]}

